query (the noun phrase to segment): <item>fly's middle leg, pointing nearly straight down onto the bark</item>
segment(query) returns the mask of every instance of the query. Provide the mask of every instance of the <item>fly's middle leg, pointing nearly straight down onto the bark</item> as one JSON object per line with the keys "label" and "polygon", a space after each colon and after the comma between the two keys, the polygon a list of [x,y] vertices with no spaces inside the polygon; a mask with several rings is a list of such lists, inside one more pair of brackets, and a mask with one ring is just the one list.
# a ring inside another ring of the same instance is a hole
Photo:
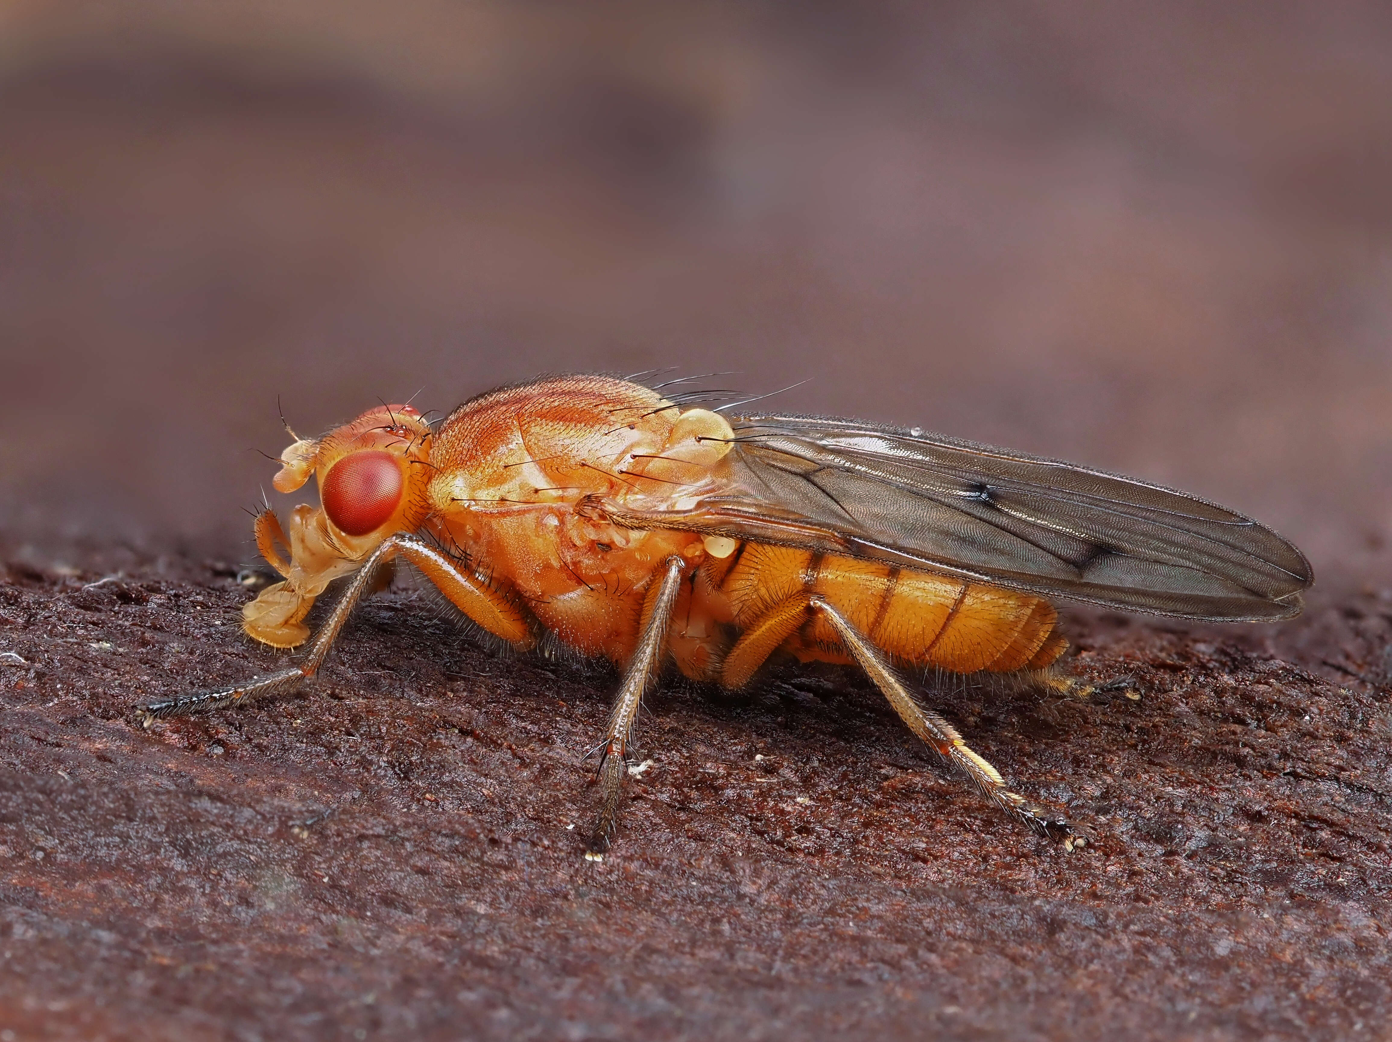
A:
{"label": "fly's middle leg, pointing nearly straight down onto the bark", "polygon": [[624,683],[604,732],[599,771],[600,812],[594,821],[594,829],[590,832],[589,846],[585,849],[586,861],[603,861],[604,851],[608,850],[610,842],[614,839],[618,810],[624,799],[624,780],[628,778],[628,746],[633,737],[633,721],[638,718],[643,691],[663,665],[663,652],[667,650],[667,626],[672,618],[672,608],[677,605],[677,594],[682,587],[685,566],[686,562],[679,556],[667,558],[663,562],[661,579],[649,587],[647,595],[643,598],[638,647],[633,650],[628,669],[624,671]]}

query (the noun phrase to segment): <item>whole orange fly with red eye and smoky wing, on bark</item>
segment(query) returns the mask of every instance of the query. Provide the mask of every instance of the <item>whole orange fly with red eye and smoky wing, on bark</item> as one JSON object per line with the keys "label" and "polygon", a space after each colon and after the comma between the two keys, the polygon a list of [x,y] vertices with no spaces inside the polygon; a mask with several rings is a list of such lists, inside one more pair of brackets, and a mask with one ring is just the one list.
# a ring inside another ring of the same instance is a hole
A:
{"label": "whole orange fly with red eye and smoky wing, on bark", "polygon": [[[671,661],[746,684],[774,652],[857,664],[903,722],[1044,835],[1065,817],[999,772],[898,676],[1047,671],[1068,647],[1051,597],[1205,620],[1289,619],[1310,565],[1222,506],[1129,477],[919,428],[802,416],[727,419],[640,384],[547,377],[432,426],[370,409],[281,455],[322,508],[271,511],[256,543],[284,580],[244,608],[276,647],[351,576],[298,665],[145,704],[157,716],[242,704],[315,675],[354,605],[402,558],[477,626],[528,650],[547,633],[624,673],[600,748],[586,857],[610,846],[633,722]],[[283,556],[278,545],[288,548]]]}

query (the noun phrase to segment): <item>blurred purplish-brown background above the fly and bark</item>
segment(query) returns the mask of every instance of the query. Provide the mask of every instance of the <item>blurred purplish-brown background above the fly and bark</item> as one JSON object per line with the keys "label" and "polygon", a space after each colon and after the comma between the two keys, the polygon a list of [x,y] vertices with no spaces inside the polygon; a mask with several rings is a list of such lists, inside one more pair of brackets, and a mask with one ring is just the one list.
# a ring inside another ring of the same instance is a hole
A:
{"label": "blurred purplish-brown background above the fly and bark", "polygon": [[1388,570],[1392,8],[0,4],[0,531],[249,554],[276,416],[677,374]]}

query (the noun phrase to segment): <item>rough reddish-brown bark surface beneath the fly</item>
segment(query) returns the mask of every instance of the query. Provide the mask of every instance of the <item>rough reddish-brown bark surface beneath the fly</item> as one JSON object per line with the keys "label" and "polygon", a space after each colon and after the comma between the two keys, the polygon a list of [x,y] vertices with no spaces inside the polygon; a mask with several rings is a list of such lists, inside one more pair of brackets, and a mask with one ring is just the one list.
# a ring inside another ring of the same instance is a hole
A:
{"label": "rough reddish-brown bark surface beneath the fly", "polygon": [[1072,668],[1139,701],[933,694],[1073,853],[853,671],[670,682],[596,865],[606,669],[496,658],[404,588],[303,697],[145,732],[136,700],[281,661],[235,570],[3,575],[15,1038],[1385,1036],[1392,590],[1279,630],[1075,612]]}

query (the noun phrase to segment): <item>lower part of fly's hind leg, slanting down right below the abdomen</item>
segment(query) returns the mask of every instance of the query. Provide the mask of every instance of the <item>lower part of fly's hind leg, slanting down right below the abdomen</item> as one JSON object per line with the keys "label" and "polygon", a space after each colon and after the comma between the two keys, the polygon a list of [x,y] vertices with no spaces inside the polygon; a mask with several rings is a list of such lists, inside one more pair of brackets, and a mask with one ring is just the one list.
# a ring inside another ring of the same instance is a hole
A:
{"label": "lower part of fly's hind leg, slanting down right below the abdomen", "polygon": [[951,723],[920,705],[913,693],[895,675],[884,654],[860,636],[841,612],[821,597],[812,597],[809,607],[827,618],[827,622],[837,630],[841,643],[846,646],[846,650],[866,671],[876,687],[889,700],[899,718],[909,725],[909,730],[923,739],[944,761],[962,769],[981,794],[990,797],[998,807],[1023,821],[1041,836],[1062,835],[1070,850],[1075,844],[1082,843],[1059,811],[1030,803],[1019,793],[1006,789],[1001,772],[972,751]]}

